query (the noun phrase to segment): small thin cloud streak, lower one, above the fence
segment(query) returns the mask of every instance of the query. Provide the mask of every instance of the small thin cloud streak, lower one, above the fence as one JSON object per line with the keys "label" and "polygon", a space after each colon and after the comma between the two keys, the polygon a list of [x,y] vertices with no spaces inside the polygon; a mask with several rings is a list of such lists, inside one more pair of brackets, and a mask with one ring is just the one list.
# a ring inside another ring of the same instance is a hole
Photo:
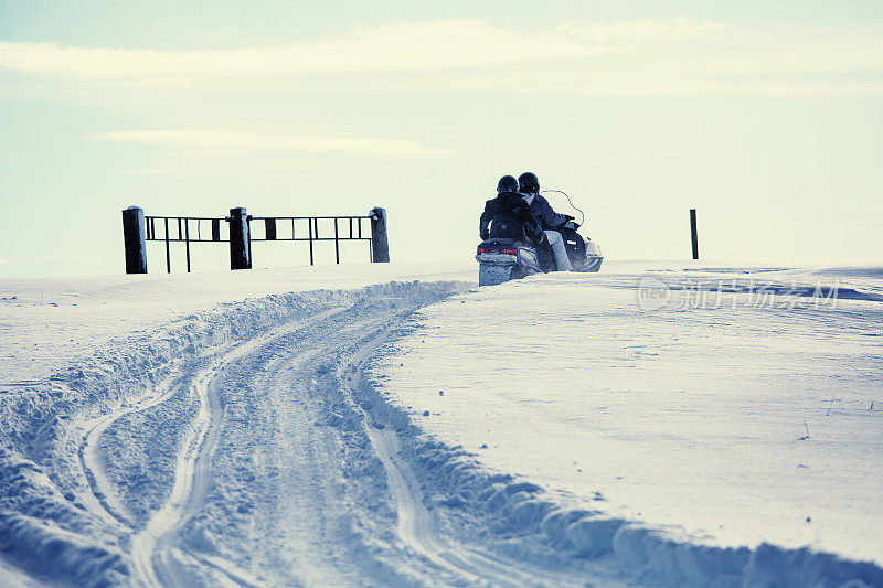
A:
{"label": "small thin cloud streak, lower one, above the fence", "polygon": [[409,139],[372,139],[355,137],[301,137],[262,135],[225,130],[136,130],[103,132],[89,137],[99,141],[170,145],[222,149],[270,149],[323,153],[361,153],[371,156],[447,156],[450,151],[423,147]]}

